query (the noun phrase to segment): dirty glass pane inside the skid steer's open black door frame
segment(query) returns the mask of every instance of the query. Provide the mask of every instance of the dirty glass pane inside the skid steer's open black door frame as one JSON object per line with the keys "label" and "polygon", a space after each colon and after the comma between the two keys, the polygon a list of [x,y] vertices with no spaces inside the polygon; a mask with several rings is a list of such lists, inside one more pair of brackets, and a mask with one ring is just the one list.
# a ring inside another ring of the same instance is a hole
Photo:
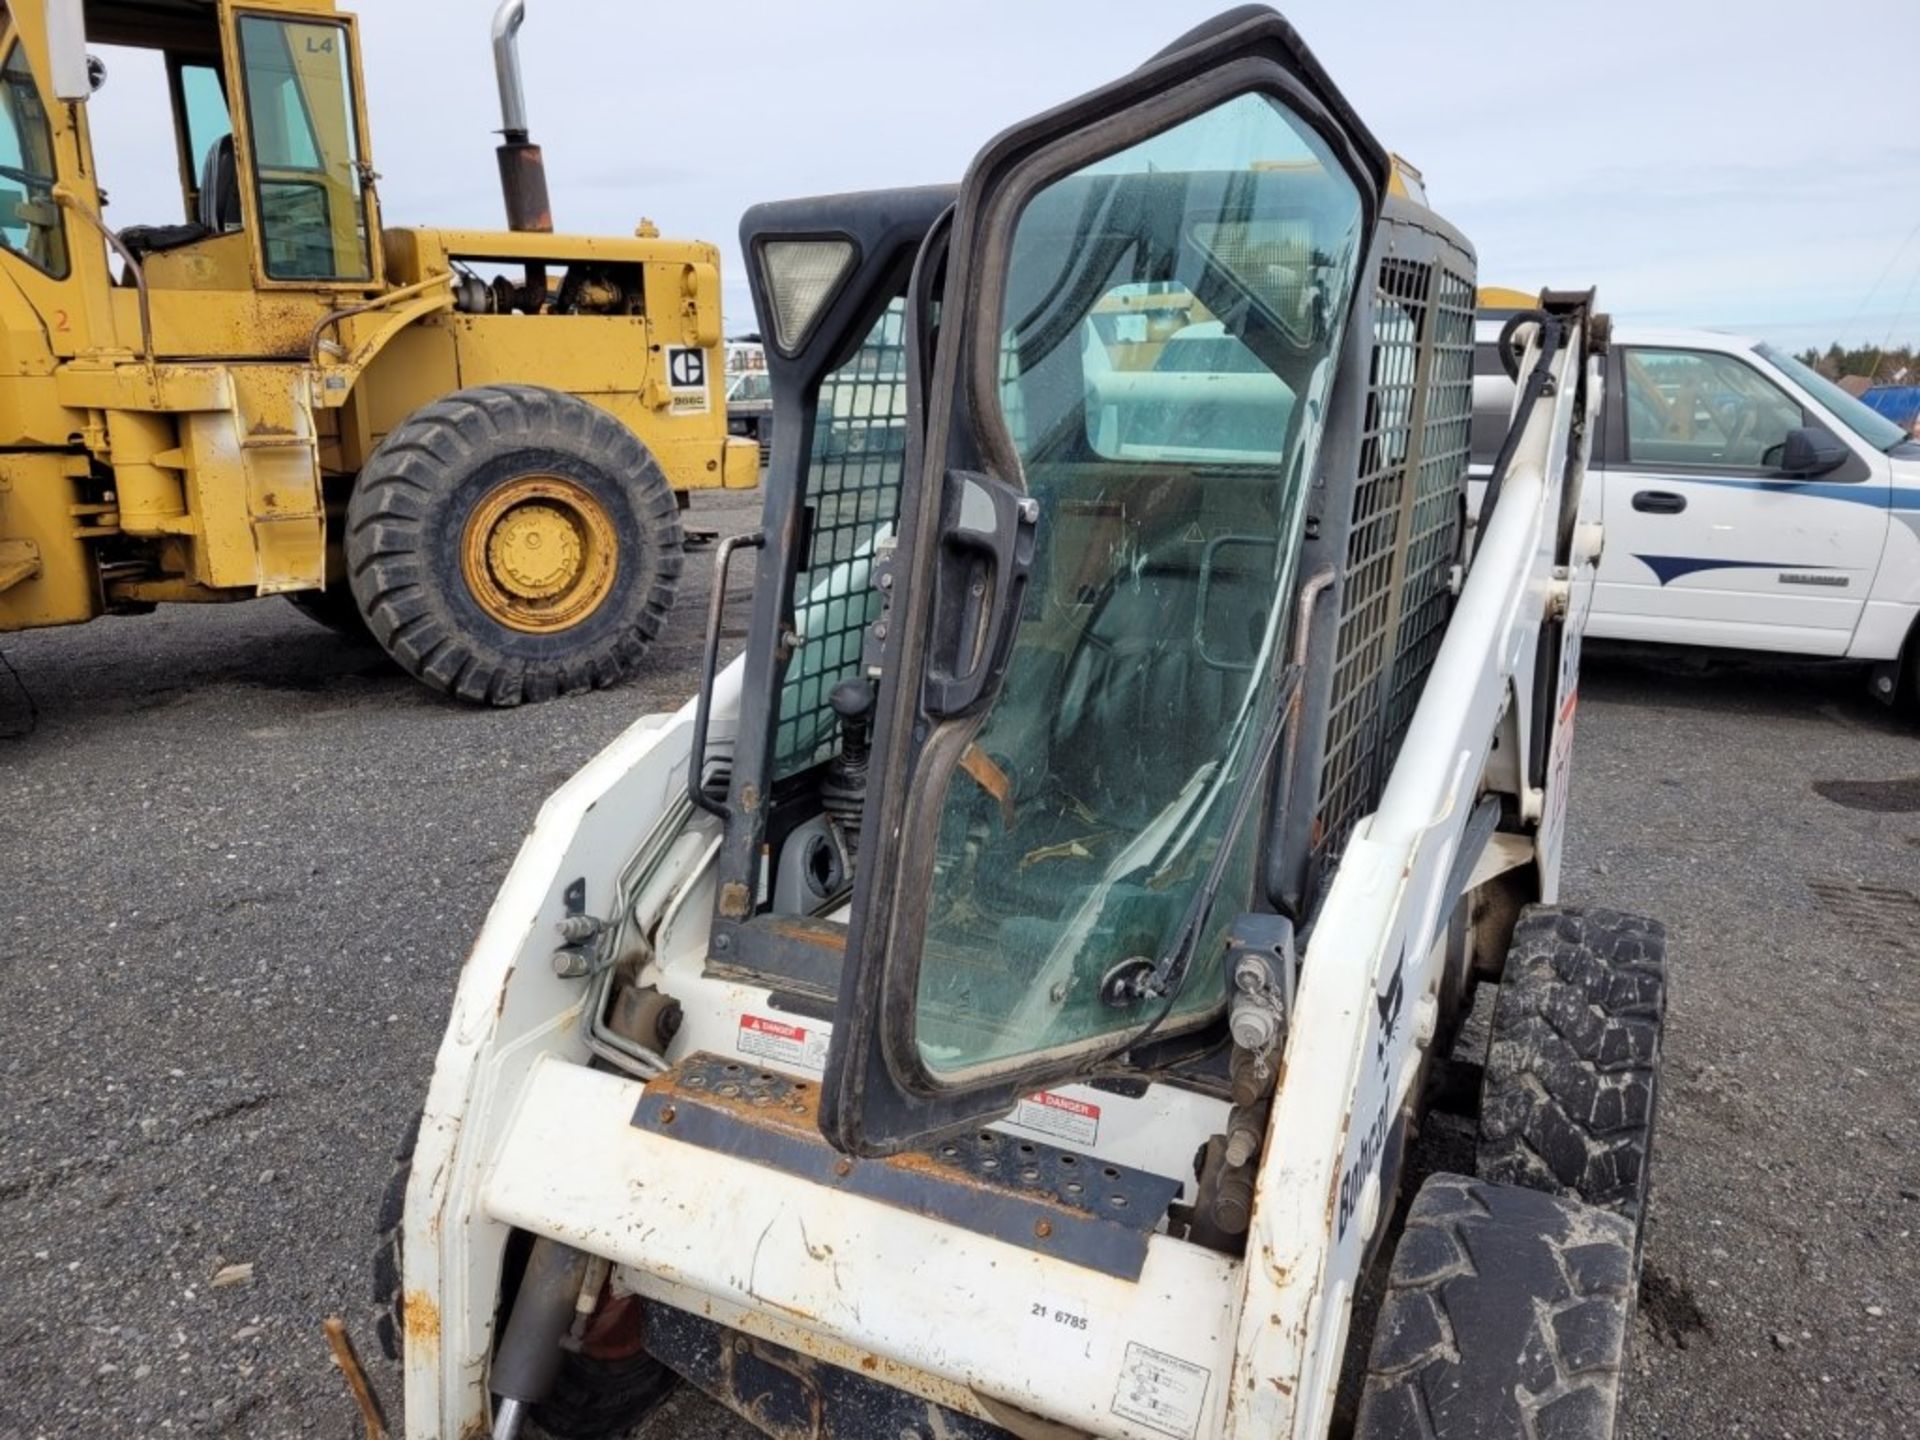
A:
{"label": "dirty glass pane inside the skid steer's open black door frame", "polygon": [[[1242,94],[1014,223],[987,403],[1039,524],[1004,689],[927,801],[916,1044],[941,1081],[1225,998],[1206,958],[1248,900],[1258,816],[1227,822],[1275,712],[1361,215],[1325,142]],[[1102,998],[1196,918],[1185,991]]]}

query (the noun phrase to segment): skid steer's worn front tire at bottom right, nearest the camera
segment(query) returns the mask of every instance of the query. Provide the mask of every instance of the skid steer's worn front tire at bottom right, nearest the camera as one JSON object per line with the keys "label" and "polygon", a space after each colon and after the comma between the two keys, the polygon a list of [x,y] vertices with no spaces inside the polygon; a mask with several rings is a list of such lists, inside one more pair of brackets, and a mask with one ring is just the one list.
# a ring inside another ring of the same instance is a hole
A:
{"label": "skid steer's worn front tire at bottom right, nearest the camera", "polygon": [[1611,1440],[1634,1227],[1540,1190],[1432,1175],[1373,1331],[1356,1440]]}

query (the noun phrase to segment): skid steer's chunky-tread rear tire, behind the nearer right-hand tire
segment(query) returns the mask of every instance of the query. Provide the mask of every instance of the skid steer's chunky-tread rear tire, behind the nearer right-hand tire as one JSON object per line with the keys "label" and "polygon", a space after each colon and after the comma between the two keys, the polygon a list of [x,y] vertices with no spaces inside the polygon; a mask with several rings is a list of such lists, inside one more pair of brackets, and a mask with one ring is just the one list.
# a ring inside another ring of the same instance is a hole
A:
{"label": "skid steer's chunky-tread rear tire, behind the nearer right-hand tire", "polygon": [[1480,1089],[1480,1179],[1640,1223],[1653,1160],[1667,929],[1528,906],[1513,927]]}

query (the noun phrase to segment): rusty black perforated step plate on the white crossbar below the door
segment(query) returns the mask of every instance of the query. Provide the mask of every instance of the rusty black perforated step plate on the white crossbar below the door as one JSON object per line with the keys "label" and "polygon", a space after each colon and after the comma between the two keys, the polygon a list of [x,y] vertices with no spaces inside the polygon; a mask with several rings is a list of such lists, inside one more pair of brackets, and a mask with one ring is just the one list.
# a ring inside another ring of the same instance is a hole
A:
{"label": "rusty black perforated step plate on the white crossbar below the door", "polygon": [[1146,1240],[1181,1190],[1164,1175],[998,1131],[854,1160],[822,1139],[818,1104],[810,1081],[691,1054],[647,1081],[634,1123],[1123,1281],[1140,1279]]}

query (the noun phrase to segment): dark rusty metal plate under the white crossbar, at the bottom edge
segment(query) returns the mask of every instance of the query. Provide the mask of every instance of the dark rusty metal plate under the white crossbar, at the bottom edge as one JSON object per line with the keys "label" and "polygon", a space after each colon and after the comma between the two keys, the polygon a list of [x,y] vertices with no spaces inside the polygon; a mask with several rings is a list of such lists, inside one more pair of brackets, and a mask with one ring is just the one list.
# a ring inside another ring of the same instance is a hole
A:
{"label": "dark rusty metal plate under the white crossbar, at the bottom edge", "polygon": [[668,1306],[647,1309],[647,1350],[778,1440],[1002,1440],[1010,1434],[870,1375]]}

